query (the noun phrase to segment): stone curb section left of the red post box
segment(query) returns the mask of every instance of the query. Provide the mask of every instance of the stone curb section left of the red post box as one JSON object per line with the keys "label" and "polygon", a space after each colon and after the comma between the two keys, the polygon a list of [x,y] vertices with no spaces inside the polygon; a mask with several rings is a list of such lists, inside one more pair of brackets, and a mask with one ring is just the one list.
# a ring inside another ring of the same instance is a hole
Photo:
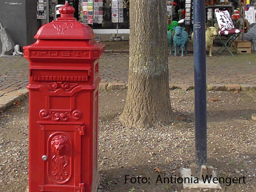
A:
{"label": "stone curb section left of the red post box", "polygon": [[4,94],[0,97],[0,111],[5,111],[8,109],[15,100],[22,101],[29,95],[29,90],[19,89],[12,91],[10,93]]}

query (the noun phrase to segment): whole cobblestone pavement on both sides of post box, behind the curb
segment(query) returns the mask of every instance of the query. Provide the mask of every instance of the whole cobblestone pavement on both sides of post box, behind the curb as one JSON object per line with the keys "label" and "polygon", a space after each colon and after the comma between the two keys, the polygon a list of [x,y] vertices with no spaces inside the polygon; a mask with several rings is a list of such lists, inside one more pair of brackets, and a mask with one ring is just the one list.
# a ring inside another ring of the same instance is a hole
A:
{"label": "whole cobblestone pavement on both sides of post box, behind the curb", "polygon": [[[168,57],[172,84],[194,84],[194,56]],[[0,96],[28,84],[29,62],[24,57],[0,57]],[[100,59],[101,82],[128,82],[129,54],[104,54]],[[207,56],[207,84],[256,84],[256,53],[232,57]]]}

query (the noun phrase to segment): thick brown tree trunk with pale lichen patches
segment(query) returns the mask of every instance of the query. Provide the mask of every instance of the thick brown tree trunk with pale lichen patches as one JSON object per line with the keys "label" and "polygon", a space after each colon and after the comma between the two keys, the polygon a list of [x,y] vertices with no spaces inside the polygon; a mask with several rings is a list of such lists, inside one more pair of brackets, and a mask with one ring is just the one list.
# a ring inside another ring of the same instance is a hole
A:
{"label": "thick brown tree trunk with pale lichen patches", "polygon": [[131,0],[129,85],[120,117],[126,126],[173,122],[167,44],[166,0]]}

